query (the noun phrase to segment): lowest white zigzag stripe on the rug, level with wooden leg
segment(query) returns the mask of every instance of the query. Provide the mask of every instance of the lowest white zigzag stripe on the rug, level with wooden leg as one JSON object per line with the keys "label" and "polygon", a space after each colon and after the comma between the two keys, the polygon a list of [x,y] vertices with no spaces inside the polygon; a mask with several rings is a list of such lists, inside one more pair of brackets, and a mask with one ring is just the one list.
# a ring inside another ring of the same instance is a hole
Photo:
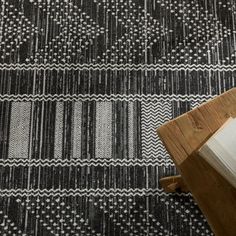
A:
{"label": "lowest white zigzag stripe on the rug, level with wooden leg", "polygon": [[[1,196],[39,196],[39,197],[49,197],[49,196],[169,196],[169,193],[163,192],[162,189],[3,189],[1,190]],[[190,193],[176,193],[177,196],[191,196]]]}

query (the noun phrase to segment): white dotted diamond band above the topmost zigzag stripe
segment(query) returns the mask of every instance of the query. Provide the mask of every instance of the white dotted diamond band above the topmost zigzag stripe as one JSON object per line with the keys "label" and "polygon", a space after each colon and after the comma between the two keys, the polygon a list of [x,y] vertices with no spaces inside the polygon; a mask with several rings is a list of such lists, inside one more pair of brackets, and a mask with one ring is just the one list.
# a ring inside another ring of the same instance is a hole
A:
{"label": "white dotted diamond band above the topmost zigzag stripe", "polygon": [[0,63],[235,64],[234,1],[3,1]]}

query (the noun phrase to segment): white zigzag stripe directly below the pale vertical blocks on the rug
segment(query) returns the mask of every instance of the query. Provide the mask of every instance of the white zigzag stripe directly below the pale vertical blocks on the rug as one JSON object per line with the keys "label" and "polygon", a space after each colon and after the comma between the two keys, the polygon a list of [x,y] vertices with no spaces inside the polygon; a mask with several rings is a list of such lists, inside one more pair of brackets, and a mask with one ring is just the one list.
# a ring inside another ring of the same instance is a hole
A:
{"label": "white zigzag stripe directly below the pale vertical blocks on the rug", "polygon": [[0,166],[171,166],[163,159],[6,159]]}

